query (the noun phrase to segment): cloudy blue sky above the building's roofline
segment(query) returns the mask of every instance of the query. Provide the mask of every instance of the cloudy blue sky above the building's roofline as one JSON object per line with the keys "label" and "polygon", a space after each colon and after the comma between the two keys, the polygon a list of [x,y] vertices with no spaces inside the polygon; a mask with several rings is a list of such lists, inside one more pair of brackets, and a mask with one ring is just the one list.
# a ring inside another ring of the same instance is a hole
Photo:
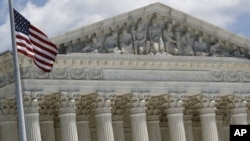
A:
{"label": "cloudy blue sky above the building's roofline", "polygon": [[[250,38],[250,0],[12,0],[15,9],[50,37],[154,2]],[[0,52],[10,50],[8,0],[0,1],[0,35]]]}

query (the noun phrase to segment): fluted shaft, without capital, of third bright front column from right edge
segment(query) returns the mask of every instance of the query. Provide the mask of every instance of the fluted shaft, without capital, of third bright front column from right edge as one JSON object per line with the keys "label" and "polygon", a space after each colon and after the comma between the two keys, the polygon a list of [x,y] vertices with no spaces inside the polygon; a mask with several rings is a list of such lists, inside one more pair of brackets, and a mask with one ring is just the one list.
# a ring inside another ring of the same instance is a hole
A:
{"label": "fluted shaft, without capital, of third bright front column from right edge", "polygon": [[186,141],[183,109],[169,108],[167,109],[168,127],[170,141]]}

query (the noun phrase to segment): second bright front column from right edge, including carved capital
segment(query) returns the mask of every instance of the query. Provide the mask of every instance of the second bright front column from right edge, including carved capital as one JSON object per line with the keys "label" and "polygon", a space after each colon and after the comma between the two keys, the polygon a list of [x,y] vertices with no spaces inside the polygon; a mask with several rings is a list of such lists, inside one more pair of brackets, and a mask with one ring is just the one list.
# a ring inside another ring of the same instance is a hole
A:
{"label": "second bright front column from right edge, including carved capital", "polygon": [[215,118],[215,102],[201,96],[202,108],[200,110],[201,132],[203,141],[218,141],[218,132]]}

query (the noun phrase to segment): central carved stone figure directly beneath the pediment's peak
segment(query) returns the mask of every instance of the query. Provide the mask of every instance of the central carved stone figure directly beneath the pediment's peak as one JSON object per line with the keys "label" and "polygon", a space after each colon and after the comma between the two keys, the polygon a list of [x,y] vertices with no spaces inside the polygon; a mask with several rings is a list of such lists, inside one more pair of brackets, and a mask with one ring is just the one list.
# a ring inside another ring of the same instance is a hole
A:
{"label": "central carved stone figure directly beneath the pediment's peak", "polygon": [[162,40],[161,26],[157,23],[157,19],[152,19],[152,25],[149,27],[150,48],[165,52]]}

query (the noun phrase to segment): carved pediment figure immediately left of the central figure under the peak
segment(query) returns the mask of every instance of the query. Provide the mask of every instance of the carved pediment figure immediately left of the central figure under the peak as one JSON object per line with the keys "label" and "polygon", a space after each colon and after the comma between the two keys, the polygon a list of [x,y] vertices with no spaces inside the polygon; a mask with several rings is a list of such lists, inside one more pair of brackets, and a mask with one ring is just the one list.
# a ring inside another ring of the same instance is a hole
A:
{"label": "carved pediment figure immediately left of the central figure under the peak", "polygon": [[143,24],[139,22],[137,29],[132,31],[135,54],[148,54],[149,42],[147,42],[147,32],[143,29]]}

